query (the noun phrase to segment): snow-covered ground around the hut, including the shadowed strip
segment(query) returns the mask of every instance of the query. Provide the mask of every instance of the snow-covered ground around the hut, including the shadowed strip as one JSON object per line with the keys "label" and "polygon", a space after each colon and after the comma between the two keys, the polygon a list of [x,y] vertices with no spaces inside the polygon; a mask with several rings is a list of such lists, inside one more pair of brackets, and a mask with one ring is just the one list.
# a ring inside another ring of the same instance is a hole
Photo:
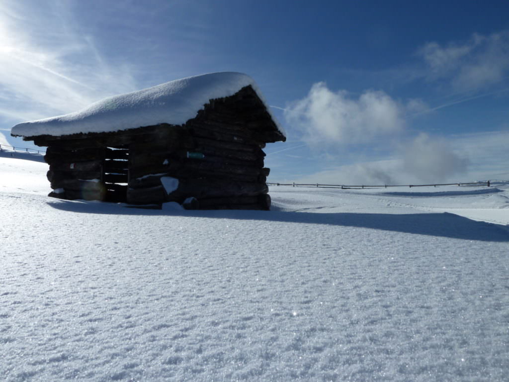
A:
{"label": "snow-covered ground around the hut, including the shadowed strip", "polygon": [[10,155],[0,380],[507,380],[507,184],[155,211],[48,198]]}

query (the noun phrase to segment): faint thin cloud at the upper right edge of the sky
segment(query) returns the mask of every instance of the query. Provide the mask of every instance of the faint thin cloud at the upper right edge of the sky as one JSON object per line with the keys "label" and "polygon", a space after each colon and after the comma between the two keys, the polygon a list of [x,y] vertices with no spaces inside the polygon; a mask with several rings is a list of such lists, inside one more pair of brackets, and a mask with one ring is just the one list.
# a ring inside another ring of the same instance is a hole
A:
{"label": "faint thin cloud at the upper right edge of the sky", "polygon": [[509,31],[474,34],[468,41],[430,42],[418,56],[428,65],[430,80],[446,79],[456,91],[478,90],[500,83],[509,72]]}

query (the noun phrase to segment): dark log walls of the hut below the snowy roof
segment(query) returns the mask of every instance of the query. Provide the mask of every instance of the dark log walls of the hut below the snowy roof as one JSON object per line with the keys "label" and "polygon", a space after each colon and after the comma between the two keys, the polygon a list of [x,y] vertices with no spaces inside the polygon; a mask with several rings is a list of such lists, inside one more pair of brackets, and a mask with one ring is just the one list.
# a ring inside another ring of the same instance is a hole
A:
{"label": "dark log walls of the hut below the snowy roof", "polygon": [[284,141],[251,87],[214,99],[184,125],[30,137],[49,146],[50,196],[134,205],[269,209],[267,142]]}

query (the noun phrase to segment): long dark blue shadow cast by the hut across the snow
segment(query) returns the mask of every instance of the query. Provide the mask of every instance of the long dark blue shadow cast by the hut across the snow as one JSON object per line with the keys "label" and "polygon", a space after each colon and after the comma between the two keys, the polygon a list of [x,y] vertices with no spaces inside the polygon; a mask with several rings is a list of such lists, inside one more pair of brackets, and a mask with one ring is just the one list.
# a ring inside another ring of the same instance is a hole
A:
{"label": "long dark blue shadow cast by the hut across the snow", "polygon": [[359,227],[376,230],[448,237],[453,239],[509,242],[507,226],[476,222],[453,213],[316,213],[259,210],[183,210],[177,205],[163,210],[125,208],[124,204],[96,201],[55,200],[51,207],[71,212],[147,215],[175,217],[202,217],[209,219],[257,220],[281,223],[324,224],[340,227]]}

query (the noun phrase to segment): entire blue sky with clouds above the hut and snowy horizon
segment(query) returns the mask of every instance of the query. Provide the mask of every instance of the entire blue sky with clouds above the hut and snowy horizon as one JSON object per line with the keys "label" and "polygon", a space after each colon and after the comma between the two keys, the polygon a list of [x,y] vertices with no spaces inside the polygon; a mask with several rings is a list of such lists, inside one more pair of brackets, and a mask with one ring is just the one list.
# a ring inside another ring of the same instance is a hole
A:
{"label": "entire blue sky with clouds above the hut and snowy horizon", "polygon": [[3,0],[0,130],[240,71],[288,134],[271,181],[509,178],[509,3],[415,3]]}

